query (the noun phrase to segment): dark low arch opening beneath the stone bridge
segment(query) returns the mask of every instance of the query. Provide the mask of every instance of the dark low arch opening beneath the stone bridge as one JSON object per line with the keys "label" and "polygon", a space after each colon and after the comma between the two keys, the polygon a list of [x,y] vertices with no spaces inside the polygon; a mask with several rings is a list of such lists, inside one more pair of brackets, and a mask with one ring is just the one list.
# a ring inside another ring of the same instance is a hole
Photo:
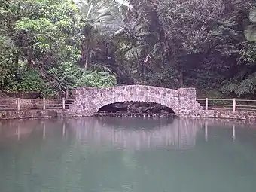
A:
{"label": "dark low arch opening beneath the stone bridge", "polygon": [[114,102],[102,106],[97,112],[123,114],[175,114],[172,108],[155,102]]}

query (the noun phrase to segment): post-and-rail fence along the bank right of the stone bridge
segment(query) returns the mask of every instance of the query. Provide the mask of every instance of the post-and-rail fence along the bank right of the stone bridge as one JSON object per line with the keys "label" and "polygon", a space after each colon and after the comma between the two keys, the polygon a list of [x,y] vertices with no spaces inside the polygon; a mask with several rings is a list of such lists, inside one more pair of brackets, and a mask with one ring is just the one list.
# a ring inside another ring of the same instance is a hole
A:
{"label": "post-and-rail fence along the bank right of the stone bridge", "polygon": [[256,100],[248,99],[197,99],[204,110],[256,111]]}

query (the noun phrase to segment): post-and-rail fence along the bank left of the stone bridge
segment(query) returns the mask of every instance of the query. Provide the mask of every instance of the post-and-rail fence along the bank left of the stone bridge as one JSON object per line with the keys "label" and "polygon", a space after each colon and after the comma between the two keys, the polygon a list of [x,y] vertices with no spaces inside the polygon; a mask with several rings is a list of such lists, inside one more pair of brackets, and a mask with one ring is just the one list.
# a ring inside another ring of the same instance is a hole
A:
{"label": "post-and-rail fence along the bank left of the stone bridge", "polygon": [[0,99],[0,111],[69,109],[73,99]]}

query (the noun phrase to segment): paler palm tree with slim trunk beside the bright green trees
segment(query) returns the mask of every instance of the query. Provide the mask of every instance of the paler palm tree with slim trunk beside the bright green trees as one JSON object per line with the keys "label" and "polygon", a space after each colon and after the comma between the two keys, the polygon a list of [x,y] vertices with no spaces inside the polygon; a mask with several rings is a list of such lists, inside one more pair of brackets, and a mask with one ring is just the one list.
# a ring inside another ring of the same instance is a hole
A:
{"label": "paler palm tree with slim trunk beside the bright green trees", "polygon": [[79,0],[76,2],[81,12],[81,64],[84,69],[90,66],[90,59],[97,48],[97,38],[100,35],[112,35],[118,28],[114,24],[113,9],[108,6],[108,2],[94,1],[87,2]]}

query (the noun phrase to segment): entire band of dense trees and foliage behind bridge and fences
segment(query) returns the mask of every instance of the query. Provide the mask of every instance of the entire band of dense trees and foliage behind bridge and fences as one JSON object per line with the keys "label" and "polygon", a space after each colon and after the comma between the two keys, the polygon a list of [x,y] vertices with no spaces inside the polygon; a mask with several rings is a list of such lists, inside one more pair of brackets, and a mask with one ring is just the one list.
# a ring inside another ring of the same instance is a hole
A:
{"label": "entire band of dense trees and foliage behind bridge and fences", "polygon": [[56,81],[70,88],[118,82],[254,96],[254,0],[126,4],[0,1],[0,89],[51,93]]}

